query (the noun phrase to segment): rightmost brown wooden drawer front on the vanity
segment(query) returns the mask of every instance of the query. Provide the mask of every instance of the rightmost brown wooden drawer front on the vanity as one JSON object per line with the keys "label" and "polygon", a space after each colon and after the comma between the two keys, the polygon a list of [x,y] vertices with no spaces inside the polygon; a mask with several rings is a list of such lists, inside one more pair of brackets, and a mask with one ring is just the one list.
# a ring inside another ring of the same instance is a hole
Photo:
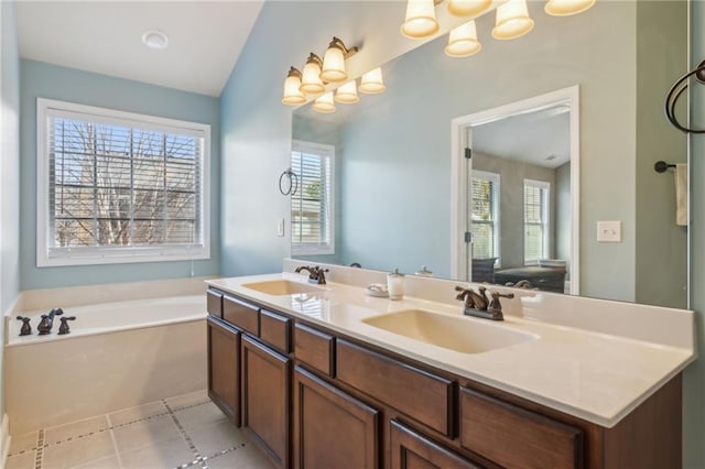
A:
{"label": "rightmost brown wooden drawer front on the vanity", "polygon": [[460,389],[460,445],[507,468],[582,468],[583,433]]}

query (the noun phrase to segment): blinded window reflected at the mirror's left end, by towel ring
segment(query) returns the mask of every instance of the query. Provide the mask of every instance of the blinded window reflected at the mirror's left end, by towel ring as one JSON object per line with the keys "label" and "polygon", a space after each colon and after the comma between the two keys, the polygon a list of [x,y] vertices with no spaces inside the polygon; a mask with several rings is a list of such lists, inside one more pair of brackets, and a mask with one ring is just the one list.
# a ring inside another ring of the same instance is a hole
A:
{"label": "blinded window reflected at the mirror's left end, by towel ring", "polygon": [[297,176],[291,196],[291,247],[294,254],[333,254],[335,148],[295,140],[291,168]]}

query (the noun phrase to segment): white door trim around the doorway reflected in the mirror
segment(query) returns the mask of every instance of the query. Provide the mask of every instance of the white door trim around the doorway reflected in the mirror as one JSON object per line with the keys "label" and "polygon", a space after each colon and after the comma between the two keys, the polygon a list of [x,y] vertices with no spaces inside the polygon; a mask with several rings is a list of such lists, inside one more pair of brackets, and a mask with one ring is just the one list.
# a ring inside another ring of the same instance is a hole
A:
{"label": "white door trim around the doorway reflected in the mirror", "polygon": [[571,107],[571,261],[568,265],[571,279],[571,294],[579,294],[579,222],[581,222],[581,126],[579,126],[579,94],[578,85],[557,89],[544,95],[487,109],[467,116],[462,116],[451,121],[451,276],[465,279],[467,272],[467,259],[462,255],[465,249],[464,231],[460,226],[467,214],[466,193],[466,164],[465,148],[467,146],[467,132],[465,129],[471,126],[494,122],[507,116],[517,116],[527,112],[553,107],[557,103],[566,103]]}

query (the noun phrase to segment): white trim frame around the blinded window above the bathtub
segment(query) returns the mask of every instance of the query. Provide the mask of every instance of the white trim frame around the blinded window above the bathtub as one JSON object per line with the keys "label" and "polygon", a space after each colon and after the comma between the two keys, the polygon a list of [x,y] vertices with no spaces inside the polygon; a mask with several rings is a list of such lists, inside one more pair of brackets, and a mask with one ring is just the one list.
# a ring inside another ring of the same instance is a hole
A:
{"label": "white trim frame around the blinded window above the bathtub", "polygon": [[[200,164],[200,218],[203,244],[173,244],[158,247],[50,248],[48,226],[48,159],[46,119],[52,116],[73,116],[108,124],[131,124],[142,129],[175,132],[203,138]],[[55,251],[52,254],[52,251]],[[61,251],[61,254],[58,254]],[[171,262],[210,259],[210,126],[156,116],[118,111],[54,99],[36,99],[36,266],[93,265],[133,262]]]}

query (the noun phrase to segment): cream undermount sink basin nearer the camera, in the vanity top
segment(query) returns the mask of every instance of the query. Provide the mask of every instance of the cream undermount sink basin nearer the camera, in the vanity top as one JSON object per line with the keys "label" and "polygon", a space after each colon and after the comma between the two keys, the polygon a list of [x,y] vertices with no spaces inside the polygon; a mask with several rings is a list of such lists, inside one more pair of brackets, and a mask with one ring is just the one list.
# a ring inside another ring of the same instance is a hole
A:
{"label": "cream undermount sink basin nearer the camera, in the vanity top", "polygon": [[482,353],[539,337],[502,325],[485,324],[463,316],[446,316],[423,309],[405,309],[362,319],[373,327],[410,339],[431,343],[462,353]]}

